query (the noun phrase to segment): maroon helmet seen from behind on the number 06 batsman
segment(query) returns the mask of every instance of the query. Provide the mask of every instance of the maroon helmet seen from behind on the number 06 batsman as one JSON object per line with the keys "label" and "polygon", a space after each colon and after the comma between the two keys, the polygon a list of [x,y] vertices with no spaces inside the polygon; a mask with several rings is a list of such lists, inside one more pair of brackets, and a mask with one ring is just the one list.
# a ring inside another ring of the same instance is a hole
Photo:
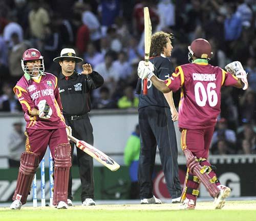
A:
{"label": "maroon helmet seen from behind on the number 06 batsman", "polygon": [[193,56],[210,60],[212,57],[210,43],[203,38],[197,38],[192,41],[191,45],[188,46],[188,61],[190,63],[193,62]]}

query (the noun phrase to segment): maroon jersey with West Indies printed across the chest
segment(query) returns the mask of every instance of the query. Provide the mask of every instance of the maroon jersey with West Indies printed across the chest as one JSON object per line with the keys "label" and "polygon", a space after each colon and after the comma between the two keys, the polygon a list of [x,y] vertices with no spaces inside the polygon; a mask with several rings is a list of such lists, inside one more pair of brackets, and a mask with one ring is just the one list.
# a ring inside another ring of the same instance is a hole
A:
{"label": "maroon jersey with West Indies printed across the chest", "polygon": [[[30,129],[56,129],[66,127],[65,119],[62,115],[57,78],[50,73],[44,73],[38,80],[26,80],[23,76],[13,88],[25,113],[27,122],[26,128]],[[49,119],[41,119],[38,116],[32,117],[30,112],[33,108],[38,109],[40,102],[49,104],[52,111]]]}

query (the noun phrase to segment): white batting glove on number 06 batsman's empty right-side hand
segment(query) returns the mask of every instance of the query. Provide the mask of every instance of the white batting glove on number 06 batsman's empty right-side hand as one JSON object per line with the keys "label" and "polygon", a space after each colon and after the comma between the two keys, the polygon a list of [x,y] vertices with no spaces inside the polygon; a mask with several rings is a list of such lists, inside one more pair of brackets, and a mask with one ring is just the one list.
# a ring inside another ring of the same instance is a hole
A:
{"label": "white batting glove on number 06 batsman's empty right-side hand", "polygon": [[225,69],[237,78],[241,79],[241,81],[244,83],[243,90],[246,90],[248,88],[247,73],[245,72],[243,65],[240,61],[233,61],[227,64]]}

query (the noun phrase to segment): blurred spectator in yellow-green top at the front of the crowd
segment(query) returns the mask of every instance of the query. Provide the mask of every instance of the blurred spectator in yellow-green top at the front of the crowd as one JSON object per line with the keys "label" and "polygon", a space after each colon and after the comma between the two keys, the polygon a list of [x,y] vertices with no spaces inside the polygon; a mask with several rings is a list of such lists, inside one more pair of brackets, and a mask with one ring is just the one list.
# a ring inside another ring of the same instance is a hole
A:
{"label": "blurred spectator in yellow-green top at the front of the crowd", "polygon": [[124,89],[124,96],[117,101],[117,106],[120,109],[137,108],[139,105],[139,98],[134,96],[132,86],[127,86]]}

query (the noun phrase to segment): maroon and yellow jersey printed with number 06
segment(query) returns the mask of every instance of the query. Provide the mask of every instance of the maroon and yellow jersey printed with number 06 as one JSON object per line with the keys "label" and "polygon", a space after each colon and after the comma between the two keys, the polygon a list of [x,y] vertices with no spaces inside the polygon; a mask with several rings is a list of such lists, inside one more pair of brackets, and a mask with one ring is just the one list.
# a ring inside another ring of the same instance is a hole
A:
{"label": "maroon and yellow jersey printed with number 06", "polygon": [[181,87],[179,127],[204,129],[215,126],[221,111],[221,86],[237,82],[237,77],[208,64],[205,59],[177,67],[165,84],[174,92]]}

